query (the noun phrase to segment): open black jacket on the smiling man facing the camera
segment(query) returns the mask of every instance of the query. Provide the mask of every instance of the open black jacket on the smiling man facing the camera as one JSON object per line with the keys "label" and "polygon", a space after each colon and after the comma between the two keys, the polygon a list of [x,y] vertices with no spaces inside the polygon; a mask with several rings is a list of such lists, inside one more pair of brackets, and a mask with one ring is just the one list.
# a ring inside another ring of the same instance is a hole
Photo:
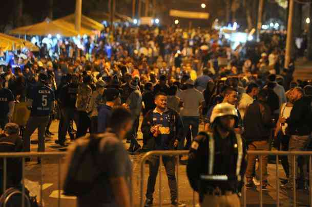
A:
{"label": "open black jacket on the smiling man facing the camera", "polygon": [[[169,134],[169,143],[168,148],[174,149],[173,144],[175,140],[180,141],[183,137],[183,124],[180,115],[173,109],[168,108],[167,113],[170,117],[170,134]],[[155,150],[156,148],[156,139],[151,132],[151,127],[153,124],[153,110],[150,110],[145,117],[143,118],[141,131],[143,133],[143,142],[147,145],[148,150]]]}

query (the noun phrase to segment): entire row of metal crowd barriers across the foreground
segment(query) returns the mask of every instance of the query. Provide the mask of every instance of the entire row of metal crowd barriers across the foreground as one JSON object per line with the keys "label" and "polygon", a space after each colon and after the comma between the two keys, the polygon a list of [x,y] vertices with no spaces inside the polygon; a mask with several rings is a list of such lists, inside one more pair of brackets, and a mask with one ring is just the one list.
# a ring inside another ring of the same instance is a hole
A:
{"label": "entire row of metal crowd barriers across the foreground", "polygon": [[[145,160],[148,159],[149,156],[152,155],[157,155],[159,157],[159,206],[162,206],[161,202],[161,182],[162,182],[162,174],[161,174],[161,166],[162,166],[162,156],[180,156],[180,155],[187,155],[189,151],[187,150],[181,150],[181,151],[150,151],[146,154],[143,155],[143,157],[140,160],[140,207],[143,207],[143,202],[144,202],[144,196],[143,196],[143,186],[144,186],[144,165],[145,165]],[[276,156],[276,204],[279,206],[279,156],[292,156],[293,162],[296,160],[296,156],[308,156],[308,170],[309,170],[309,205],[312,207],[312,151],[247,151],[247,154],[253,154],[259,156],[259,168],[260,168],[260,183],[262,183],[262,156],[265,155],[274,155]],[[60,174],[60,165],[61,165],[61,158],[63,158],[66,155],[66,152],[17,152],[17,153],[0,153],[0,159],[3,159],[3,189],[6,189],[6,177],[7,177],[7,159],[8,158],[22,158],[22,207],[25,207],[25,185],[24,185],[24,178],[25,178],[25,158],[28,157],[52,157],[52,158],[57,158],[58,160],[58,180],[57,180],[57,186],[58,186],[58,200],[57,200],[57,206],[59,207],[61,204],[61,199],[60,199],[60,179],[61,179],[61,174]],[[41,169],[42,169],[42,165]],[[179,159],[177,159],[177,164],[176,164],[176,179],[177,179],[177,185],[179,183]],[[293,165],[293,171],[295,171],[296,166]],[[295,172],[296,173],[296,172]],[[42,204],[42,199],[43,199],[43,194],[42,194],[42,185],[43,185],[43,170],[41,170],[41,175],[40,175],[40,200],[39,203]],[[191,189],[191,188],[190,188]],[[4,190],[5,192],[5,190]],[[260,185],[260,206],[263,206],[263,196],[262,196],[262,185]],[[132,195],[133,197],[133,195]],[[179,200],[179,189],[177,188],[177,199]],[[133,200],[133,198],[131,198]],[[246,206],[246,189],[245,187],[243,188],[243,202],[242,205],[245,207]],[[293,206],[296,206],[296,175],[293,178]],[[196,201],[195,201],[195,192],[193,191],[193,206],[195,206]]]}

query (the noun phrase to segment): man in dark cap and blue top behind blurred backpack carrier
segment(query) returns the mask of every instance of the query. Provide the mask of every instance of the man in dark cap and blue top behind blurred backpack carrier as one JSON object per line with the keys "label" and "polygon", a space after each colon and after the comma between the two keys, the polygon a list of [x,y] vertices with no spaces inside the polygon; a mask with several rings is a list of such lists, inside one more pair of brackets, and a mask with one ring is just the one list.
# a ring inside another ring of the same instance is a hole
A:
{"label": "man in dark cap and blue top behind blurred backpack carrier", "polygon": [[112,110],[114,106],[118,106],[121,103],[120,92],[116,88],[108,88],[103,94],[103,98],[106,100],[106,104],[100,106],[98,109],[98,123],[97,132],[103,133],[106,131],[108,121],[112,116]]}

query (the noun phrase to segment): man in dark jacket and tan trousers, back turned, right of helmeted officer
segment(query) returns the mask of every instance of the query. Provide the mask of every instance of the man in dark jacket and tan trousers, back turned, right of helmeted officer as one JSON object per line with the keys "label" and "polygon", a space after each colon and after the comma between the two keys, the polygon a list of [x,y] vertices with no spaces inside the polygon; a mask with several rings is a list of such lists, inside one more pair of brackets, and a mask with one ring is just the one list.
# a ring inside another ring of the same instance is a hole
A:
{"label": "man in dark jacket and tan trousers, back turned, right of helmeted officer", "polygon": [[[244,116],[245,131],[243,136],[248,144],[248,150],[268,150],[269,136],[274,127],[271,117],[271,109],[267,104],[269,96],[268,89],[262,89],[259,92],[258,101],[249,105]],[[248,155],[248,164],[246,169],[246,188],[255,188],[253,182],[253,173],[256,162],[256,155]],[[273,190],[267,182],[267,158],[262,156],[262,189]]]}

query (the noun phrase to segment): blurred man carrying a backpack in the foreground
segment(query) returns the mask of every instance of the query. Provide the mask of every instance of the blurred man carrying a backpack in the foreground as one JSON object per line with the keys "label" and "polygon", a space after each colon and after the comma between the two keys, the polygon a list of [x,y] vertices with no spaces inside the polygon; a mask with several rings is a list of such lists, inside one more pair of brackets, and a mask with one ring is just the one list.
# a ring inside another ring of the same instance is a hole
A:
{"label": "blurred man carrying a backpack in the foreground", "polygon": [[64,194],[77,196],[79,207],[130,207],[132,164],[122,139],[132,128],[126,108],[113,110],[105,133],[75,141],[69,150]]}

